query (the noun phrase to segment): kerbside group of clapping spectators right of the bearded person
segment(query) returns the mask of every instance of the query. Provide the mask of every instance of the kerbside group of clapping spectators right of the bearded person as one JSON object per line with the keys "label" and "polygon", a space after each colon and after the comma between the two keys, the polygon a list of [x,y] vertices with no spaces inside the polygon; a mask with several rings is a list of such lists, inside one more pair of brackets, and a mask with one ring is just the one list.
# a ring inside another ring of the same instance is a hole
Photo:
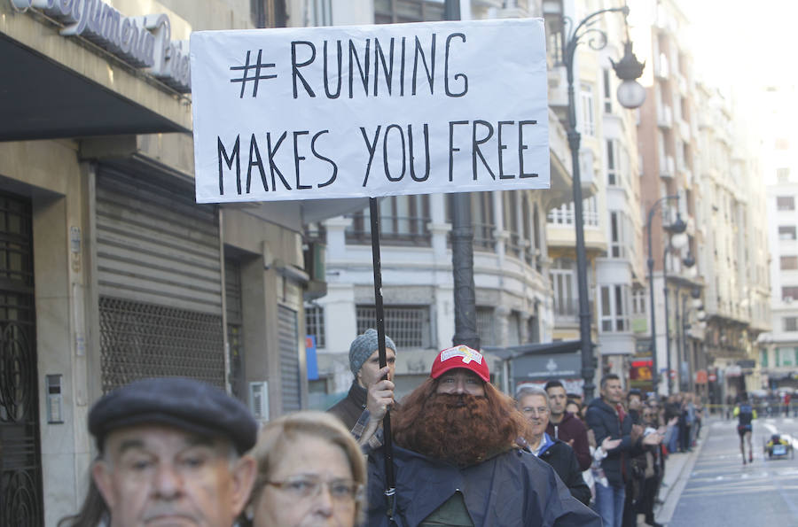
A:
{"label": "kerbside group of clapping spectators right of the bearded person", "polygon": [[[527,401],[536,390],[522,385],[517,392],[528,416]],[[574,450],[591,492],[588,502],[604,524],[637,525],[643,515],[645,523],[658,525],[653,509],[665,459],[695,446],[704,416],[700,397],[688,392],[654,398],[637,389],[623,391],[614,375],[602,379],[600,397],[592,401],[567,393],[559,381],[546,384],[544,393],[549,399],[547,433]]]}

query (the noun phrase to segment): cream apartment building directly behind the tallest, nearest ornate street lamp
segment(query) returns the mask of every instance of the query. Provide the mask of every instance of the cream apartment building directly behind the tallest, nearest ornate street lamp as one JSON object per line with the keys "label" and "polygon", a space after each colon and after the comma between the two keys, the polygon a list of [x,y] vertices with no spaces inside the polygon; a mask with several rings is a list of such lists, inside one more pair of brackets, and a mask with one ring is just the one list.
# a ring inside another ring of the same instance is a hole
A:
{"label": "cream apartment building directly behind the tallest, nearest ornate street lamp", "polygon": [[[567,82],[559,53],[573,30],[573,25],[567,25],[563,34],[561,17],[578,23],[591,12],[622,4],[543,3],[554,63],[549,101],[560,120],[567,119]],[[606,13],[597,19],[594,27],[606,33],[607,45],[596,51],[582,42],[577,48],[574,67],[588,289],[598,372],[613,372],[623,378],[629,376],[631,358],[641,337],[645,337],[647,313],[642,294],[645,270],[638,214],[637,115],[616,100],[619,81],[612,66],[612,60],[617,61],[623,53],[625,22],[620,13]],[[554,337],[578,338],[573,202],[549,211],[546,232],[552,260]]]}

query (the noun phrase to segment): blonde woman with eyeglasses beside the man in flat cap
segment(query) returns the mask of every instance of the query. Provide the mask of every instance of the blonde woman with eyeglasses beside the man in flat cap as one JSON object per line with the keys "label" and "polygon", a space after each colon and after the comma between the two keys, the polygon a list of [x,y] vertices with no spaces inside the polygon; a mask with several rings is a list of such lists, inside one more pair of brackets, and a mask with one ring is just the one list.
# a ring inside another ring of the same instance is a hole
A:
{"label": "blonde woman with eyeglasses beside the man in flat cap", "polygon": [[245,514],[253,527],[362,521],[363,453],[339,419],[298,412],[269,422],[250,452],[258,474]]}

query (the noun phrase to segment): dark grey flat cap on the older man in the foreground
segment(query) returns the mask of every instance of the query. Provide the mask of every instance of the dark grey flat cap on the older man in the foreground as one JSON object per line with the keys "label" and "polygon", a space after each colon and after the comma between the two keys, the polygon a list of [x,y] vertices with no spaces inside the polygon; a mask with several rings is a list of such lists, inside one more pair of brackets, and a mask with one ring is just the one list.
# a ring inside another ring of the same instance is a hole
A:
{"label": "dark grey flat cap on the older man in the foreground", "polygon": [[165,424],[203,437],[227,438],[239,453],[255,444],[258,424],[223,390],[185,377],[143,379],[106,393],[89,412],[89,431],[102,452],[113,430]]}

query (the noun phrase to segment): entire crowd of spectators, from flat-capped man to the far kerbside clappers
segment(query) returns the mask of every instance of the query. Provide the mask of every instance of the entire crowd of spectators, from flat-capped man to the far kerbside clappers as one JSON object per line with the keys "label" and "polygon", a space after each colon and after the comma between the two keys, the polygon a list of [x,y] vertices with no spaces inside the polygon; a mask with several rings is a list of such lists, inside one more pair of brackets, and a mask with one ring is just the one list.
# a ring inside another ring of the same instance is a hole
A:
{"label": "entire crowd of spectators, from flat-capped man to the far kerbside clappers", "polygon": [[700,398],[647,398],[612,374],[592,400],[556,380],[513,398],[456,345],[396,401],[395,345],[385,337],[380,360],[378,341],[369,329],[352,343],[352,386],[328,413],[262,427],[192,379],[107,393],[89,413],[86,498],[61,524],[658,526],[665,458],[695,444]]}

